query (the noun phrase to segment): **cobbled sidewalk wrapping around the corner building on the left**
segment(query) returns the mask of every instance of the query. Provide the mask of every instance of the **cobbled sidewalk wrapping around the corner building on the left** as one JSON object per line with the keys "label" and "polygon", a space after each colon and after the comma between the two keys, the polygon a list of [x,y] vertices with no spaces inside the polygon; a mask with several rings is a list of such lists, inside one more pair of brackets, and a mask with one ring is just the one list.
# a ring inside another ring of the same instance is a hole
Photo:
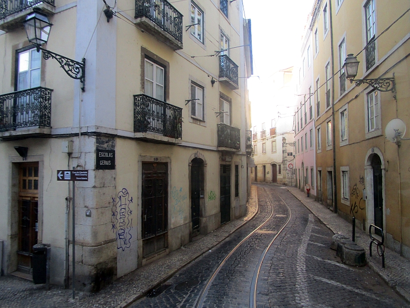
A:
{"label": "cobbled sidewalk wrapping around the corner building on the left", "polygon": [[45,285],[35,285],[31,281],[8,275],[0,277],[0,307],[127,307],[248,222],[258,208],[256,186],[251,187],[244,217],[224,224],[206,236],[198,236],[195,241],[137,268],[97,293],[76,292],[76,299],[72,300],[72,291],[69,289],[51,286],[50,290],[46,290]]}

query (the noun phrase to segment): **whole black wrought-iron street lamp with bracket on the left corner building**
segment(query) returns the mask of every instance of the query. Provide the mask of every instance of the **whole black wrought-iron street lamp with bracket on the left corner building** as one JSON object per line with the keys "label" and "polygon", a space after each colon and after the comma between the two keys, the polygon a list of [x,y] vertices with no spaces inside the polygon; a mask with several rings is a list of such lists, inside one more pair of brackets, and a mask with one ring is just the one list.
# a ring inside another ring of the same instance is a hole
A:
{"label": "whole black wrought-iron street lamp with bracket on the left corner building", "polygon": [[27,38],[29,42],[37,48],[37,51],[43,51],[44,60],[48,60],[50,58],[57,60],[67,75],[73,79],[78,79],[81,83],[81,90],[84,92],[86,80],[86,59],[83,58],[83,61],[78,62],[65,57],[64,55],[60,55],[41,47],[43,44],[47,43],[52,25],[53,24],[50,23],[46,15],[44,15],[39,9],[34,8],[33,12],[27,15],[26,21],[24,22]]}

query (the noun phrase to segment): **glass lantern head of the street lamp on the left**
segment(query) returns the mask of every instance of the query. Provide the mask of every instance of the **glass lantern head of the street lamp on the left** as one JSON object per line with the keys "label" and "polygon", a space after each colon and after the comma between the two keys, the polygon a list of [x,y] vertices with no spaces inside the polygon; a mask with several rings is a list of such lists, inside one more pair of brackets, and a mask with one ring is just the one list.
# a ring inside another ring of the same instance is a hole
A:
{"label": "glass lantern head of the street lamp on the left", "polygon": [[47,43],[52,25],[47,16],[38,11],[33,11],[27,15],[24,27],[29,42],[35,46]]}

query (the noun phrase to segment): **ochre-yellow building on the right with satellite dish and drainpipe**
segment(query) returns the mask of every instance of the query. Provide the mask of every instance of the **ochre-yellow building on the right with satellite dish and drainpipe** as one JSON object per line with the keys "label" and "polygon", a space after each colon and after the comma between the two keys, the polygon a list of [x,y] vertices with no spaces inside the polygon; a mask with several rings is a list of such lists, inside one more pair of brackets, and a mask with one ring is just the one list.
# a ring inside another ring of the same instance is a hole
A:
{"label": "ochre-yellow building on the right with satellite dish and drainpipe", "polygon": [[[405,0],[318,0],[310,24],[318,198],[366,232],[382,228],[386,245],[407,258],[410,143],[386,139],[386,125],[410,125],[409,8]],[[360,62],[355,80],[365,82],[346,80],[347,54]]]}

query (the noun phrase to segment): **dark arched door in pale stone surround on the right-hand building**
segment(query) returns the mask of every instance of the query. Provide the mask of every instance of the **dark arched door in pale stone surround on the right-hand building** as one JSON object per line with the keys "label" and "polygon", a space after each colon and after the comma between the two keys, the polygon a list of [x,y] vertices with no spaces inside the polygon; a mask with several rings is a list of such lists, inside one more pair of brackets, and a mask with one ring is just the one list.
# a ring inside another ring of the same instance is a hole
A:
{"label": "dark arched door in pale stone surround on the right-hand building", "polygon": [[383,177],[381,173],[381,160],[377,154],[372,158],[372,168],[375,225],[383,229]]}

